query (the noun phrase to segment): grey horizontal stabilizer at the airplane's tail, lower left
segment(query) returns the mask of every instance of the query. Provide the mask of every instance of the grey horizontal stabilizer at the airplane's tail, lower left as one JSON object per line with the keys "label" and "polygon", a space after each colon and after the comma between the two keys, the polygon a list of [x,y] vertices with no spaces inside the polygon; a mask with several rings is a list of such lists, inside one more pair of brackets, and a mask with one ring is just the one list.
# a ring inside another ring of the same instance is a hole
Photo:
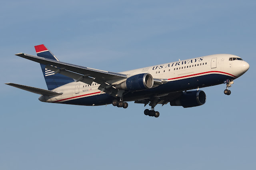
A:
{"label": "grey horizontal stabilizer at the airplane's tail, lower left", "polygon": [[13,87],[17,87],[17,88],[22,89],[22,90],[30,91],[32,93],[36,93],[36,94],[39,94],[39,95],[46,95],[46,96],[62,95],[62,93],[58,93],[58,92],[54,92],[54,91],[50,91],[50,90],[45,90],[45,89],[39,89],[39,88],[36,88],[36,87],[30,87],[30,86],[26,86],[26,85],[18,85],[18,84],[14,84],[14,83],[5,83],[5,84],[13,86]]}

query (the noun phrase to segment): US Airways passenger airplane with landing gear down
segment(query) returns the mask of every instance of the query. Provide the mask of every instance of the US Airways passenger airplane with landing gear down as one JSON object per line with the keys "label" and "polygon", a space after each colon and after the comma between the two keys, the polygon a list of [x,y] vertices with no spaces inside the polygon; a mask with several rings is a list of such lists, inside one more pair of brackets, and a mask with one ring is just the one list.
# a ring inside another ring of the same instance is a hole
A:
{"label": "US Airways passenger airplane with landing gear down", "polygon": [[[161,65],[114,73],[59,61],[44,45],[34,46],[37,56],[15,55],[40,63],[48,90],[5,83],[41,95],[49,103],[127,108],[128,101],[149,105],[144,114],[159,117],[157,104],[196,107],[206,103],[203,87],[226,84],[229,87],[243,75],[249,64],[231,54],[214,54]],[[193,90],[196,89],[196,90]]]}

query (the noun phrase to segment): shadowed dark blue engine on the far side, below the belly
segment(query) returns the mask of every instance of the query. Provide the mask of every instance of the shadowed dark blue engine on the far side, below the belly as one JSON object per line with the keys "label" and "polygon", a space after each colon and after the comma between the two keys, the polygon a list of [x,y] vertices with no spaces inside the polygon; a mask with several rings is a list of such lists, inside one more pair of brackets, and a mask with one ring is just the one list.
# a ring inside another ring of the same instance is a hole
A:
{"label": "shadowed dark blue engine on the far side, below the belly", "polygon": [[196,107],[203,105],[206,102],[206,95],[204,91],[187,91],[183,92],[183,95],[174,101],[170,101],[171,106],[182,106],[186,107]]}

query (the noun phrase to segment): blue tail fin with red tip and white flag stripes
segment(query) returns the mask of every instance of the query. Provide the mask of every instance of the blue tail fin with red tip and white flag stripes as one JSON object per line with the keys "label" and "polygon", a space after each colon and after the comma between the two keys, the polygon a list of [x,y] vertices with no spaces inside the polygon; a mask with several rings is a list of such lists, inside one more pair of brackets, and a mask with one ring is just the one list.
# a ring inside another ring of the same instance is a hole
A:
{"label": "blue tail fin with red tip and white flag stripes", "polygon": [[[44,44],[36,45],[36,54],[38,57],[44,57],[48,59],[53,59],[59,61],[55,55],[46,47]],[[40,64],[42,68],[42,72],[44,74],[44,79],[47,85],[48,90],[55,89],[57,87],[60,87],[62,85],[71,83],[74,81],[74,79],[70,77],[66,77],[61,74],[54,74],[54,71],[51,71],[49,69],[46,69],[44,64]]]}

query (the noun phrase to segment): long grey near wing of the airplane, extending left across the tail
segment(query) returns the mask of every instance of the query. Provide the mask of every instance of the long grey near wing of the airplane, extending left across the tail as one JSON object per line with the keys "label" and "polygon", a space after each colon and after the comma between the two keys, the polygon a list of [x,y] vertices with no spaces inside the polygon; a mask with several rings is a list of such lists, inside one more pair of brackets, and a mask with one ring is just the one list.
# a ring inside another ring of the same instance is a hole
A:
{"label": "long grey near wing of the airplane, extending left across the tail", "polygon": [[44,64],[47,69],[51,69],[52,71],[55,71],[55,73],[66,75],[67,77],[71,77],[77,81],[82,81],[87,84],[91,84],[93,81],[102,84],[115,79],[122,80],[127,78],[127,75],[125,74],[82,67],[25,53],[18,53],[15,55]]}

